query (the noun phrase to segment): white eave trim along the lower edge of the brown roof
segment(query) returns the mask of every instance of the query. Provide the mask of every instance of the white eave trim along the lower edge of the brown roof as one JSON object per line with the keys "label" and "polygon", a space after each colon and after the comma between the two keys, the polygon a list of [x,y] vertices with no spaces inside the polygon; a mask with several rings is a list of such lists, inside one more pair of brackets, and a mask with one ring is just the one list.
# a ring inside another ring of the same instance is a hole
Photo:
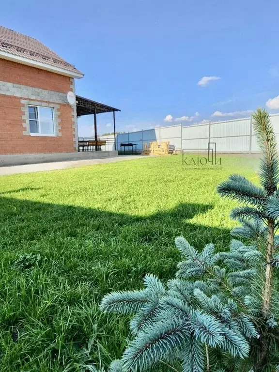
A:
{"label": "white eave trim along the lower edge of the brown roof", "polygon": [[31,60],[29,58],[20,57],[20,56],[17,56],[15,54],[4,52],[2,50],[0,50],[0,58],[3,58],[5,60],[9,60],[9,61],[13,61],[13,62],[17,62],[17,63],[26,64],[26,65],[31,66],[31,67],[40,68],[42,70],[51,71],[51,72],[54,72],[54,73],[59,74],[59,75],[68,76],[70,78],[81,79],[81,78],[84,77],[84,74],[82,74],[79,71],[77,71],[77,72],[68,71],[68,70],[65,70],[61,67],[56,67],[56,66],[52,66],[50,64],[44,63],[44,62],[38,62],[38,61]]}

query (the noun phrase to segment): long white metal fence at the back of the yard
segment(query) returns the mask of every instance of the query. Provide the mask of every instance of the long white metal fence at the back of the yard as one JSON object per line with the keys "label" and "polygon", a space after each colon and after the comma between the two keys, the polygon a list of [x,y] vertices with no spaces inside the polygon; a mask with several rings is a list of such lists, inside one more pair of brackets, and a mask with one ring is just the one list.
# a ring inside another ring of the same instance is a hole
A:
{"label": "long white metal fence at the back of the yard", "polygon": [[[279,114],[270,115],[279,143]],[[114,150],[114,138],[102,136],[108,140],[107,150]],[[251,118],[228,120],[197,125],[171,125],[138,132],[123,133],[116,136],[116,148],[121,143],[135,143],[137,149],[143,149],[143,143],[170,141],[175,150],[208,148],[208,142],[216,142],[219,153],[257,153],[259,152],[253,131]]]}

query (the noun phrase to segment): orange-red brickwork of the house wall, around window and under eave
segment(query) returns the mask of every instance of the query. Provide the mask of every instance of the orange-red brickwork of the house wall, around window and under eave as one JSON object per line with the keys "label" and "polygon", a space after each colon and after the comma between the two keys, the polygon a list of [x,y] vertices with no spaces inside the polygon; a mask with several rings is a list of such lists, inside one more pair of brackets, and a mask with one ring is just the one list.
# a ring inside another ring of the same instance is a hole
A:
{"label": "orange-red brickwork of the house wall, around window and under eave", "polygon": [[[0,81],[62,93],[71,90],[70,78],[66,76],[2,59],[0,59]],[[76,151],[73,140],[72,108],[69,105],[59,103],[62,136],[33,137],[23,134],[24,112],[21,108],[24,105],[20,102],[21,99],[26,98],[0,94],[0,155]],[[40,102],[43,104],[44,101]],[[57,104],[57,102],[53,103]]]}

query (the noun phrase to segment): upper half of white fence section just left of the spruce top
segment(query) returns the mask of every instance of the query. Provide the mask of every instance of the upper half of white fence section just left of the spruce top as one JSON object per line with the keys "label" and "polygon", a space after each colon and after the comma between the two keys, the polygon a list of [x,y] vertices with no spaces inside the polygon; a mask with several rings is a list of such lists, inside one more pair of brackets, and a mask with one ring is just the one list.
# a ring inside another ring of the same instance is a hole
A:
{"label": "upper half of white fence section just left of the spruce top", "polygon": [[211,124],[211,137],[248,136],[250,133],[250,119],[218,122]]}

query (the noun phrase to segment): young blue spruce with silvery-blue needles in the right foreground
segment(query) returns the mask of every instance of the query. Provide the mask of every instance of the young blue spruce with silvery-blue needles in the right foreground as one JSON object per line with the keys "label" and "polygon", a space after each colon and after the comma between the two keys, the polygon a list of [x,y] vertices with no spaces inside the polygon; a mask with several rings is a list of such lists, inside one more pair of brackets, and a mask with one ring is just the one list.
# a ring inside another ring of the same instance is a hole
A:
{"label": "young blue spruce with silvery-blue needles in the right foreground", "polygon": [[261,186],[240,175],[217,186],[221,196],[242,204],[231,213],[242,224],[232,235],[246,243],[233,239],[229,252],[216,253],[213,244],[199,252],[178,237],[183,261],[175,279],[165,285],[149,274],[144,289],[107,294],[102,310],[134,315],[134,339],[111,372],[160,364],[182,372],[279,371],[277,142],[265,110],[255,112],[253,125]]}

